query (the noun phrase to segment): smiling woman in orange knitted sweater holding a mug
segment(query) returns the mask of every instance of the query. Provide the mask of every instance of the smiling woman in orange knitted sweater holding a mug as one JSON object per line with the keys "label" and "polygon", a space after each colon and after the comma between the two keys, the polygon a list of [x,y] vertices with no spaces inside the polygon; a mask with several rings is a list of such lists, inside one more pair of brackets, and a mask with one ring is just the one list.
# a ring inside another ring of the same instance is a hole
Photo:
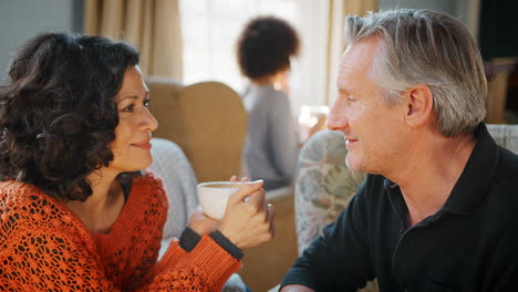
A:
{"label": "smiling woman in orange knitted sweater holding a mug", "polygon": [[244,184],[157,262],[167,200],[142,170],[158,124],[137,64],[125,43],[61,33],[15,55],[0,90],[1,291],[217,291],[272,237],[262,182]]}

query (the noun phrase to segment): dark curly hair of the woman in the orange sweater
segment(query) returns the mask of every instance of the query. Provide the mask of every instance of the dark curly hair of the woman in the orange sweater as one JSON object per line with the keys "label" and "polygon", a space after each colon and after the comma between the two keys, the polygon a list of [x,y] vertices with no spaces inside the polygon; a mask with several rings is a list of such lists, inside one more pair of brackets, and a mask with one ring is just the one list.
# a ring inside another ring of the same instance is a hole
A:
{"label": "dark curly hair of the woman in the orange sweater", "polygon": [[137,63],[134,48],[102,36],[46,33],[25,43],[0,88],[0,178],[84,201],[86,176],[113,160],[114,97]]}

